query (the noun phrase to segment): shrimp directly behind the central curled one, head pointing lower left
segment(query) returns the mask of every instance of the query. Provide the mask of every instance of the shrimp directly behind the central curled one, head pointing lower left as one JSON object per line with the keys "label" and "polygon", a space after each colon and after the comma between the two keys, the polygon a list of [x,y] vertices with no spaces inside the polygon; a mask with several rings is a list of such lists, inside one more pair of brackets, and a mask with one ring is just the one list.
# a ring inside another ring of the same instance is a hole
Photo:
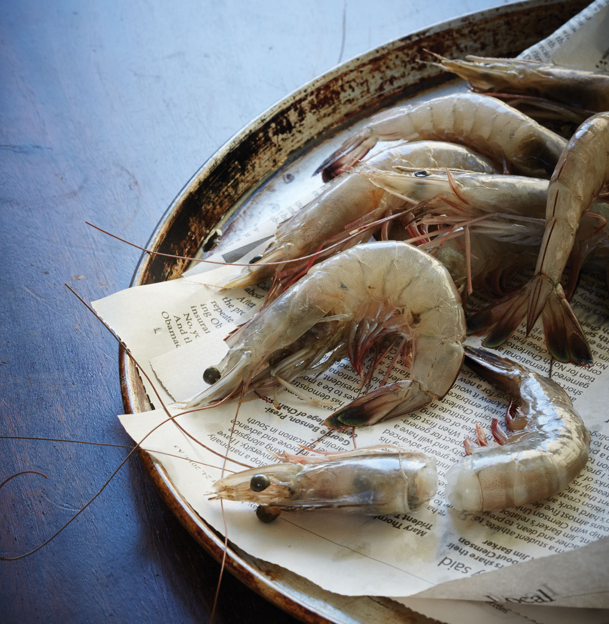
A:
{"label": "shrimp directly behind the central curled one, head pointing lower left", "polygon": [[[367,164],[375,170],[393,167],[458,168],[477,172],[494,172],[495,165],[489,158],[462,147],[437,141],[417,141],[397,145],[369,158]],[[226,288],[249,286],[260,283],[277,273],[291,278],[307,266],[308,260],[288,265],[265,265],[268,262],[295,260],[316,253],[320,247],[346,238],[349,225],[359,225],[367,218],[372,222],[402,205],[403,200],[384,193],[365,175],[344,176],[309,202],[293,217],[280,223],[275,240],[255,264],[246,267],[242,274],[226,285]],[[364,232],[361,239],[369,238]],[[351,239],[349,245],[361,240]],[[336,249],[333,249],[336,251]],[[320,255],[323,258],[323,253]]]}

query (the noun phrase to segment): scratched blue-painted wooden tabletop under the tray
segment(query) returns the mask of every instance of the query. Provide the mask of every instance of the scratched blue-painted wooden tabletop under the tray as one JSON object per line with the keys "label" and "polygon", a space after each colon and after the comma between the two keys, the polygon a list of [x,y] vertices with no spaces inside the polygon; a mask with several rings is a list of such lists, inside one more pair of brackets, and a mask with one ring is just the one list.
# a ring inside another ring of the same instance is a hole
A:
{"label": "scratched blue-painted wooden tabletop under the tray", "polygon": [[[493,0],[4,2],[0,7],[3,436],[130,444],[117,345],[67,291],[129,285],[195,170],[262,110],[341,60]],[[67,522],[127,451],[0,440],[0,554]],[[219,566],[137,459],[51,544],[0,562],[2,622],[208,622]],[[223,579],[216,622],[290,622]]]}

